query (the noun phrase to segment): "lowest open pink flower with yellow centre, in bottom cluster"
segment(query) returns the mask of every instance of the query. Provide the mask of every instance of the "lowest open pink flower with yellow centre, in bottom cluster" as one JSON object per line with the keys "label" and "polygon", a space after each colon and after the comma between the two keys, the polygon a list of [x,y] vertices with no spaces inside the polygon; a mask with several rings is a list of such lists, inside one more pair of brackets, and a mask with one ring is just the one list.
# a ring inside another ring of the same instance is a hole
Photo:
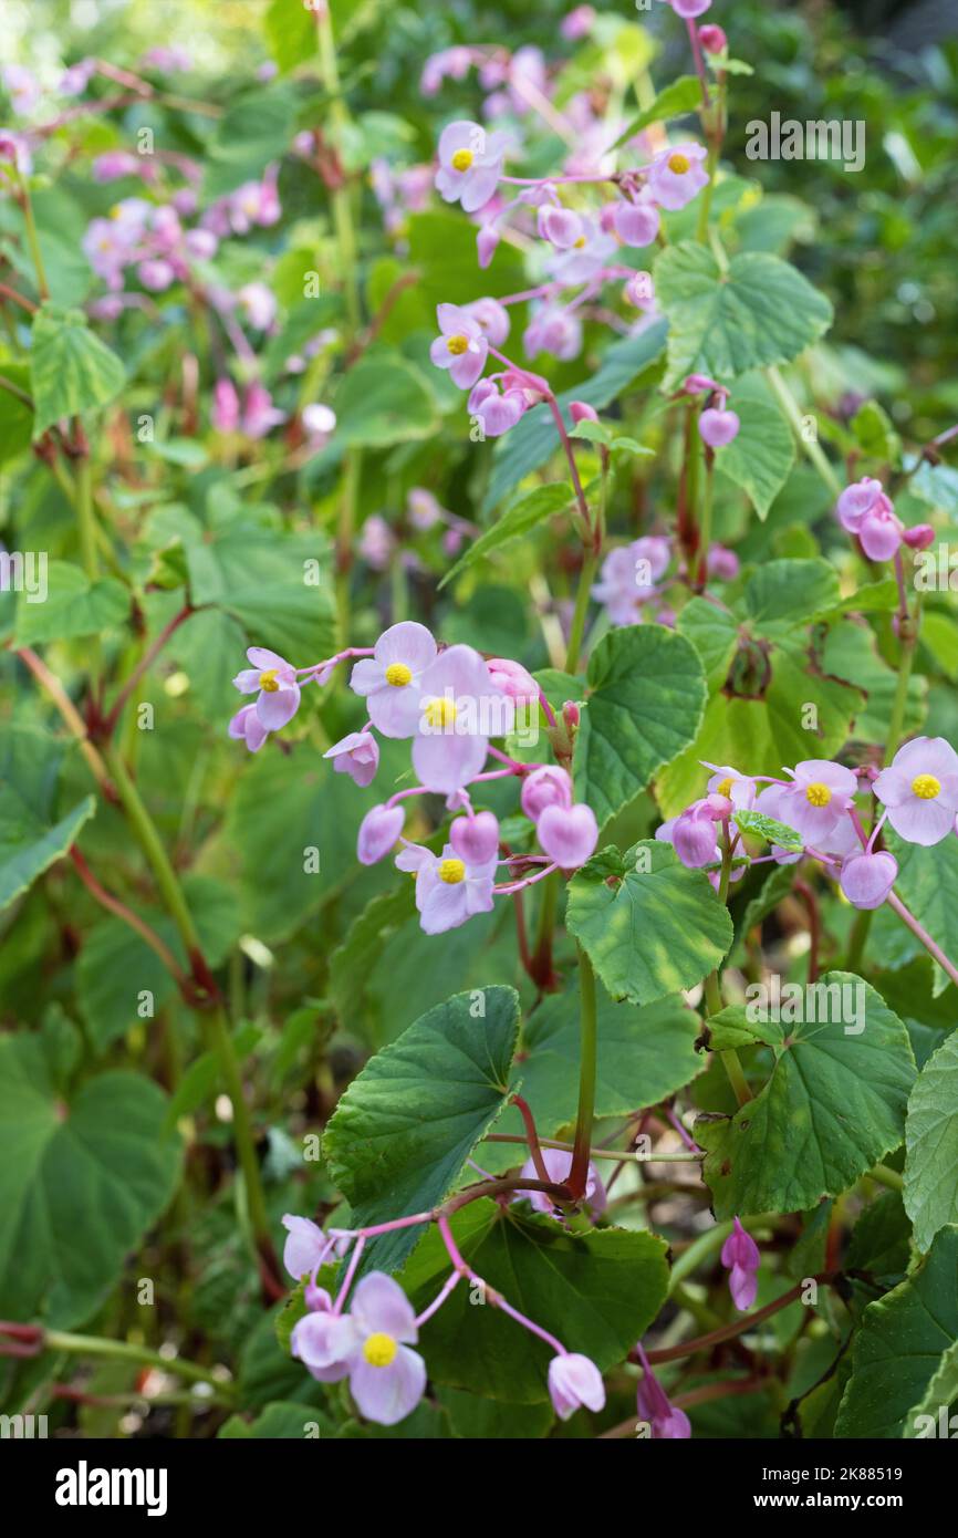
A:
{"label": "lowest open pink flower with yellow centre, in bottom cluster", "polygon": [[358,1283],[349,1318],[357,1333],[349,1392],[368,1421],[395,1426],[426,1392],[426,1363],[409,1347],[418,1338],[415,1310],[398,1281],[374,1270]]}

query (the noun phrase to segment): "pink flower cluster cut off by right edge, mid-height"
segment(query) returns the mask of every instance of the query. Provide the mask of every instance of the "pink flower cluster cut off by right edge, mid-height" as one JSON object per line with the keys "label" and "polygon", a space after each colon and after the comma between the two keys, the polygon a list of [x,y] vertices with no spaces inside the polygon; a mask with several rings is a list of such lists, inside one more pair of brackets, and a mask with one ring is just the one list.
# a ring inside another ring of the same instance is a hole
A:
{"label": "pink flower cluster cut off by right edge, mid-height", "polygon": [[[730,764],[704,767],[712,771],[707,794],[663,823],[655,837],[670,843],[684,866],[707,869],[714,886],[720,881],[718,834],[723,832],[735,857],[733,881],[747,864],[763,860],[793,864],[807,857],[837,877],[853,907],[880,907],[898,880],[898,861],[887,849],[877,847],[886,821],[913,844],[938,844],[958,834],[958,754],[943,737],[912,738],[880,772],[857,772],[826,758],[806,758],[786,769],[787,780],[744,775]],[[884,807],[870,832],[855,804],[857,795],[866,792],[873,792]],[[755,811],[783,823],[801,838],[801,849],[772,843],[770,855],[749,858],[732,826],[737,811]]]}

